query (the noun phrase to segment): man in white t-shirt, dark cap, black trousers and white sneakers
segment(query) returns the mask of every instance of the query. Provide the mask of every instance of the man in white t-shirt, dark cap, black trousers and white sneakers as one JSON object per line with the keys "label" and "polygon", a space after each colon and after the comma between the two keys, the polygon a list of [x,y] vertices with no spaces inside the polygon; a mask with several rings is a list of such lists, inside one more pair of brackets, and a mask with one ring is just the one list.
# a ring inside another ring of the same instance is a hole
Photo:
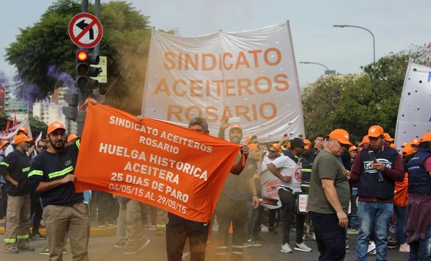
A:
{"label": "man in white t-shirt, dark cap, black trousers and white sneakers", "polygon": [[[284,253],[291,253],[292,249],[289,246],[289,235],[291,223],[295,216],[295,193],[301,192],[301,174],[302,164],[300,155],[304,151],[306,145],[300,138],[295,138],[290,141],[291,150],[286,153],[286,156],[277,157],[273,162],[268,164],[268,170],[273,175],[279,178],[278,195],[282,201],[283,209],[283,239],[282,249]],[[296,214],[296,251],[310,252],[306,244],[304,244],[304,220],[305,213]]]}

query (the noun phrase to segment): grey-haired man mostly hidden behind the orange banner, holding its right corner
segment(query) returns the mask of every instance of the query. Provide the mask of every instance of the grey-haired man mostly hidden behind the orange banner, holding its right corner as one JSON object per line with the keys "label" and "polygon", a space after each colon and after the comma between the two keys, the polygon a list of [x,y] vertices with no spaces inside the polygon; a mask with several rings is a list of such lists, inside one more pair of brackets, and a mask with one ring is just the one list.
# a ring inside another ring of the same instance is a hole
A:
{"label": "grey-haired man mostly hidden behind the orange banner, holding its right corner", "polygon": [[[209,134],[208,123],[204,118],[196,117],[188,123],[188,129]],[[241,153],[248,155],[247,146],[241,147]],[[244,166],[241,166],[241,161],[231,168],[231,173],[238,175],[243,171]],[[229,175],[230,176],[230,175]],[[184,219],[168,212],[169,221],[166,225],[166,251],[168,261],[181,261],[186,239],[190,244],[190,260],[203,261],[206,252],[206,240],[208,239],[210,221],[197,222]],[[244,229],[244,226],[243,226]],[[220,231],[220,230],[219,230]],[[242,244],[243,242],[241,242]]]}

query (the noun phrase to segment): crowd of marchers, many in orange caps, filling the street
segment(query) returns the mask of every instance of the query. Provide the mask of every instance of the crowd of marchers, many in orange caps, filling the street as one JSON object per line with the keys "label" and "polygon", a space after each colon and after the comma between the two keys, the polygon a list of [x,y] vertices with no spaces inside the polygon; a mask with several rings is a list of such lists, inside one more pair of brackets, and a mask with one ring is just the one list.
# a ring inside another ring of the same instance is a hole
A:
{"label": "crowd of marchers, many in orange caps, filling the street", "polygon": [[[191,119],[188,127],[209,134],[203,118]],[[373,251],[377,260],[387,260],[391,247],[409,252],[409,260],[431,260],[430,132],[406,142],[401,152],[379,125],[371,126],[357,146],[344,129],[318,135],[314,144],[303,137],[287,139],[287,135],[265,144],[257,136],[243,139],[241,126],[225,120],[218,137],[225,139],[226,134],[231,143],[241,146],[241,152],[231,166],[213,220],[196,222],[102,191],[92,191],[90,203],[98,207],[88,207],[84,194],[74,190],[79,137],[67,137],[65,127],[53,122],[46,139],[32,145],[28,130],[19,129],[12,144],[1,143],[1,199],[7,198],[0,207],[0,218],[6,216],[3,252],[35,251],[29,239],[47,239],[47,248],[40,253],[49,255],[49,260],[62,260],[69,239],[73,260],[88,260],[93,218],[100,227],[116,224],[114,246],[123,248],[124,255],[136,254],[149,244],[143,230],[152,225],[158,235],[165,235],[168,260],[177,261],[186,253],[190,260],[204,260],[209,231],[217,223],[217,260],[229,260],[229,255],[230,260],[243,260],[243,248],[264,244],[259,233],[268,221],[271,234],[282,226],[283,253],[313,251],[305,240],[314,239],[319,260],[343,260],[352,244],[350,228],[358,230],[357,260],[367,260]],[[263,171],[277,180],[279,208],[260,204],[265,198]],[[306,211],[298,209],[298,193],[308,195]],[[39,232],[42,219],[47,235]],[[394,235],[389,232],[391,224]],[[294,243],[290,242],[292,228]]]}

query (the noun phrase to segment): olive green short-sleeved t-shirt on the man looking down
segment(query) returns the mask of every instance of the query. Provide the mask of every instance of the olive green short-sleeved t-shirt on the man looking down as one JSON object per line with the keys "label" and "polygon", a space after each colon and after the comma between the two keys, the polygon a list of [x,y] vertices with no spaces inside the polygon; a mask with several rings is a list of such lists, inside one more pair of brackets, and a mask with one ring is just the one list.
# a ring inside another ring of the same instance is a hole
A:
{"label": "olive green short-sleeved t-shirt on the man looking down", "polygon": [[344,175],[344,167],[338,157],[327,150],[322,150],[314,159],[311,169],[311,182],[307,203],[307,211],[323,214],[336,213],[325,196],[321,179],[334,180],[336,194],[340,200],[343,211],[348,213],[350,201],[350,187],[347,177]]}

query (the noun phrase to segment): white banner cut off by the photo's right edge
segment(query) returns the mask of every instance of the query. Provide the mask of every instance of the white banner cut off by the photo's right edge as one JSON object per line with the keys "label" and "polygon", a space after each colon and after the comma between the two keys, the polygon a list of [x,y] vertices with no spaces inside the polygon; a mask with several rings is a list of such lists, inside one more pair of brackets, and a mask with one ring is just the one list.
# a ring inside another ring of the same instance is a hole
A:
{"label": "white banner cut off by the photo's right edge", "polygon": [[431,132],[431,68],[409,63],[396,122],[397,148],[425,132]]}

